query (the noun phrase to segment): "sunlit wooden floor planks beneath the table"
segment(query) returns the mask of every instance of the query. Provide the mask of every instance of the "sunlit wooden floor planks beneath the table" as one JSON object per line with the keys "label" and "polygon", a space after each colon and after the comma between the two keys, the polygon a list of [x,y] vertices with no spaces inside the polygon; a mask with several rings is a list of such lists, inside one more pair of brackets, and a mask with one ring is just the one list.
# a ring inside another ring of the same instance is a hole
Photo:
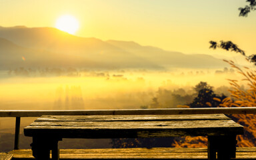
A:
{"label": "sunlit wooden floor planks beneath the table", "polygon": [[[33,158],[30,149],[12,151],[15,158]],[[177,148],[133,148],[133,149],[61,149],[61,159],[173,159],[202,157],[207,158],[207,149]]]}

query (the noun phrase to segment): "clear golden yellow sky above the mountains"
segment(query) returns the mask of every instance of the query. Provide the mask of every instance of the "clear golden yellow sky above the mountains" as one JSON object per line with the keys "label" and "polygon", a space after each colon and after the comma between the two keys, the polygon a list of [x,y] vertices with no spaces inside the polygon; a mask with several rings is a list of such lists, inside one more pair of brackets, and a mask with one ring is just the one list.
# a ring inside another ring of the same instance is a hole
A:
{"label": "clear golden yellow sky above the mountains", "polygon": [[239,17],[245,0],[0,0],[0,25],[55,27],[79,21],[75,35],[135,41],[183,53],[208,53],[210,40],[231,40],[256,53],[256,11]]}

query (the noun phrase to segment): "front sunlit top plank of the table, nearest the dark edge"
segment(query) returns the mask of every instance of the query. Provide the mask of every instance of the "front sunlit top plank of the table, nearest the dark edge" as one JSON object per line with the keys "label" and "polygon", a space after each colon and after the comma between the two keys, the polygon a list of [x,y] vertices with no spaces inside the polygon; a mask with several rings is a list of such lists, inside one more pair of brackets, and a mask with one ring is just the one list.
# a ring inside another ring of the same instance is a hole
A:
{"label": "front sunlit top plank of the table, nearest the dark edge", "polygon": [[189,129],[242,127],[232,120],[185,120],[185,121],[35,121],[25,127],[66,127],[73,129]]}

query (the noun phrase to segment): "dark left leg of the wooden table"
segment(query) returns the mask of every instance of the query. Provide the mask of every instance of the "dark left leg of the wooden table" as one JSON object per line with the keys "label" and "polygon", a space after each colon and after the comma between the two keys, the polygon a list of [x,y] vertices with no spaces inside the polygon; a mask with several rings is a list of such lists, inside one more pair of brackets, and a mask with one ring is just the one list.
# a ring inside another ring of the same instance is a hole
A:
{"label": "dark left leg of the wooden table", "polygon": [[36,160],[49,160],[52,150],[52,159],[59,160],[58,139],[44,139],[42,137],[33,137],[31,144],[33,156]]}

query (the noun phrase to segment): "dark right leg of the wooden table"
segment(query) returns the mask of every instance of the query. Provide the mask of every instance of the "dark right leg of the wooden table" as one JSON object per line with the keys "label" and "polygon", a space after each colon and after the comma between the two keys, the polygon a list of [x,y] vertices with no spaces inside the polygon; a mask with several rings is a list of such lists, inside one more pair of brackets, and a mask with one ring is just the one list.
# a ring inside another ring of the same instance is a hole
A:
{"label": "dark right leg of the wooden table", "polygon": [[208,159],[231,159],[235,158],[236,135],[209,136],[208,137]]}

